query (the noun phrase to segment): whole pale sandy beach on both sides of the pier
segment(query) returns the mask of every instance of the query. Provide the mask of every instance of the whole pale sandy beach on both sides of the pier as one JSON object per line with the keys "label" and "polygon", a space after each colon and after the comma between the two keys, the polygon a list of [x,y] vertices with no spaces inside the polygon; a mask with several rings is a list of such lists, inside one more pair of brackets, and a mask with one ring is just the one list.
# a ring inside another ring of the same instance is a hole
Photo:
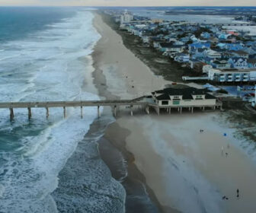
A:
{"label": "whole pale sandy beach on both sides of the pier", "polygon": [[[171,83],[126,49],[97,13],[94,26],[101,33],[93,53],[94,84],[103,98],[139,97]],[[160,211],[254,212],[255,164],[232,136],[234,129],[220,122],[220,112],[118,113],[104,138],[123,153],[130,152],[130,163],[143,175],[140,180]]]}

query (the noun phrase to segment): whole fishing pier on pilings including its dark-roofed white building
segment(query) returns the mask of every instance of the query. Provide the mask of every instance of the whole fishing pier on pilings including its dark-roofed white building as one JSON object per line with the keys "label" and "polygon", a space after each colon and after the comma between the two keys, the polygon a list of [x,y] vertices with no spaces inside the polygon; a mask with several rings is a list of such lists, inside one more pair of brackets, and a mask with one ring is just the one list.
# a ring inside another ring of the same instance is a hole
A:
{"label": "whole fishing pier on pilings including its dark-roofed white building", "polygon": [[0,103],[0,109],[10,110],[10,120],[14,119],[14,109],[25,108],[28,112],[28,119],[32,117],[32,108],[44,108],[46,110],[46,118],[50,116],[50,108],[61,107],[63,116],[66,118],[67,107],[78,107],[81,110],[81,118],[83,117],[83,108],[94,106],[98,108],[98,118],[101,116],[100,107],[110,106],[114,116],[117,116],[117,107],[126,106],[130,108],[130,115],[133,116],[133,107],[138,106],[145,109],[149,114],[150,108],[160,115],[161,110],[171,113],[176,110],[182,113],[182,110],[188,110],[194,113],[194,109],[222,110],[222,102],[209,93],[206,89],[197,89],[194,87],[173,88],[168,87],[160,91],[152,92],[151,95],[137,97],[130,100],[73,100],[73,101],[41,101],[41,102],[5,102]]}

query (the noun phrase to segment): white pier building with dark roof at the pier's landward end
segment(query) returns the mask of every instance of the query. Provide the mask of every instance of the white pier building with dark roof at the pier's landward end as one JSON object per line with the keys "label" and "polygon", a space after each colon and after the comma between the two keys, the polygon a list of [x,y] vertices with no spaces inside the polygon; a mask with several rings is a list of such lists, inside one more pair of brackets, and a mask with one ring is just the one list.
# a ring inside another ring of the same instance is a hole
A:
{"label": "white pier building with dark roof at the pier's landward end", "polygon": [[162,108],[185,108],[215,107],[216,97],[209,94],[206,89],[194,87],[172,88],[168,87],[161,91],[152,92],[153,101]]}

